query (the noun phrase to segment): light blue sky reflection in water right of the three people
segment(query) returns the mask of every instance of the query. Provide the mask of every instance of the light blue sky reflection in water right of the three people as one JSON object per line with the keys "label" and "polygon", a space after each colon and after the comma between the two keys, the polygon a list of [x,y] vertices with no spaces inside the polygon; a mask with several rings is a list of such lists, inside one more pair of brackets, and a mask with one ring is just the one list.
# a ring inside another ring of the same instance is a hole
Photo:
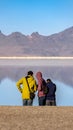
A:
{"label": "light blue sky reflection in water right of the three people", "polygon": [[57,85],[56,99],[58,106],[73,106],[73,87],[55,81]]}

